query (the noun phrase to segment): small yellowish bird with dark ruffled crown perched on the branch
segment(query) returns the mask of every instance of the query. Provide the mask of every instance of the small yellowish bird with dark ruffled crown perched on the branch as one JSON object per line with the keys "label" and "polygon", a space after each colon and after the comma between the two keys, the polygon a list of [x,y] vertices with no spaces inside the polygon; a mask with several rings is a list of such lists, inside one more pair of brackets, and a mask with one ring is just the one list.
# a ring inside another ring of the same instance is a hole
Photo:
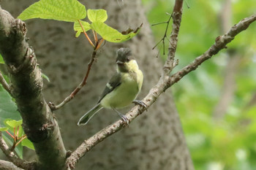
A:
{"label": "small yellowish bird with dark ruffled crown perched on the branch", "polygon": [[86,125],[91,117],[102,108],[113,109],[121,117],[121,120],[128,125],[129,120],[127,117],[118,112],[117,109],[127,107],[131,103],[146,107],[143,101],[135,100],[142,85],[143,72],[139,69],[132,51],[124,47],[118,49],[116,51],[116,73],[106,84],[105,90],[103,90],[96,106],[80,117],[78,125]]}

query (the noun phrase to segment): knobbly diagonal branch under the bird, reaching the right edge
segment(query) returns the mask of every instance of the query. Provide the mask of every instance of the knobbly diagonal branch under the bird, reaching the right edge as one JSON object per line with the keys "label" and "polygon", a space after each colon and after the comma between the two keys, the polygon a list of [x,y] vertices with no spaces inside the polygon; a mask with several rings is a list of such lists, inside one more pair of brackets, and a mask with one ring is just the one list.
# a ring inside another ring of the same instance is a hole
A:
{"label": "knobbly diagonal branch under the bird, reaching the right edge", "polygon": [[[177,0],[176,2],[181,3],[181,0]],[[178,6],[178,7],[181,7],[181,6]],[[177,18],[181,18],[181,17],[177,17]],[[181,80],[181,78],[184,77],[189,72],[192,72],[195,69],[197,69],[197,67],[200,66],[200,64],[203,63],[203,61],[206,61],[207,59],[211,58],[213,55],[217,54],[223,48],[226,48],[226,45],[229,42],[231,42],[237,34],[239,34],[241,31],[244,31],[246,28],[248,28],[248,26],[255,20],[256,20],[256,15],[252,15],[249,18],[244,18],[243,20],[241,20],[238,24],[233,26],[230,29],[230,31],[228,31],[225,35],[218,36],[217,39],[215,40],[215,44],[212,45],[206,51],[206,53],[203,53],[203,55],[200,55],[199,57],[195,58],[195,61],[192,61],[192,63],[185,66],[183,69],[181,69],[181,71],[176,72],[172,76],[167,75],[167,73],[170,72],[173,68],[173,64],[171,64],[172,63],[171,61],[173,60],[172,59],[173,55],[171,55],[172,53],[170,53],[170,57],[166,61],[167,65],[170,65],[170,67],[167,67],[167,69],[165,67],[163,68],[163,72],[165,73],[163,75],[165,76],[162,76],[159,79],[159,82],[157,82],[157,85],[155,85],[154,88],[151,88],[148,95],[145,98],[143,98],[143,102],[148,107],[150,107],[151,104],[157,101],[157,98],[159,98],[159,96],[163,92],[165,92],[165,90],[167,90],[167,88],[170,88],[171,85]],[[173,18],[173,24],[174,23],[176,23],[176,21]],[[173,39],[173,42],[176,42],[176,40]],[[175,45],[173,45],[172,47],[174,47],[173,50],[176,49]],[[133,107],[126,114],[128,121],[131,122],[132,120],[135,119],[135,117],[138,117],[138,115],[141,115],[145,110],[146,108],[144,107],[140,107],[140,106]],[[75,164],[80,160],[80,158],[83,157],[83,155],[86,154],[86,152],[89,152],[91,148],[93,148],[99,142],[102,142],[108,136],[120,131],[121,128],[123,128],[124,126],[125,126],[125,123],[122,120],[118,120],[116,121],[116,123],[113,123],[112,125],[108,125],[108,127],[102,129],[94,136],[91,136],[89,139],[86,139],[82,144],[80,144],[80,146],[74,152],[72,152],[69,158],[67,158],[67,167],[69,169],[74,169]]]}

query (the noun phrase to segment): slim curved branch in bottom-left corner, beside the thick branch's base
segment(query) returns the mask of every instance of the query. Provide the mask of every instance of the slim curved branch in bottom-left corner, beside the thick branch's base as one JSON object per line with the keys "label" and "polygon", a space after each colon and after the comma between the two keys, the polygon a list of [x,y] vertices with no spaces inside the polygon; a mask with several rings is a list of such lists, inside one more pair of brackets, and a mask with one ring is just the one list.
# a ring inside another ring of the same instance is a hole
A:
{"label": "slim curved branch in bottom-left corner, beside the thick branch's base", "polygon": [[[4,152],[4,155],[7,156],[7,158],[12,161],[12,163],[15,164],[15,166],[18,166],[22,169],[34,169],[34,164],[35,162],[26,162],[23,161],[22,159],[18,158],[17,155],[15,155],[14,152],[10,151],[10,148],[7,146],[7,143],[4,142],[4,139],[1,136],[1,131],[0,131],[0,149]],[[0,166],[1,169],[1,166]]]}

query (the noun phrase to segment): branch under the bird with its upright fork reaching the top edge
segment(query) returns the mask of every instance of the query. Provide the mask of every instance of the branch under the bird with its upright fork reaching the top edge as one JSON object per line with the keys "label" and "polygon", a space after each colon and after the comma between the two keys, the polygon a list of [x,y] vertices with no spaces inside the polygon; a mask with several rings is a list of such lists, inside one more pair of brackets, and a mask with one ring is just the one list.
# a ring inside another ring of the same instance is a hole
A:
{"label": "branch under the bird with its upright fork reaching the top edge", "polygon": [[[181,25],[181,15],[182,15],[182,4],[183,0],[176,0],[176,3],[173,7],[173,30],[170,34],[170,47],[169,47],[169,53],[167,61],[165,62],[165,66],[162,71],[162,77],[160,78],[157,85],[151,89],[151,91],[148,93],[148,96],[143,99],[143,102],[149,107],[151,104],[154,103],[154,101],[157,100],[157,97],[155,98],[155,95],[160,95],[161,93],[158,93],[159,86],[162,86],[162,84],[167,84],[165,82],[165,78],[169,77],[169,74],[171,70],[176,66],[177,62],[174,62],[174,56],[176,52],[176,46],[178,42],[178,31],[179,27]],[[170,20],[169,20],[170,21]],[[165,31],[166,36],[166,31]],[[126,115],[128,118],[128,121],[131,122],[135,119],[135,117],[138,117],[142,112],[144,112],[147,108],[145,107],[138,107],[135,106],[131,109],[131,111],[128,112]],[[112,125],[109,125],[107,128],[102,129],[94,136],[91,136],[91,138],[85,140],[83,144],[81,144],[77,150],[72,152],[72,155],[67,158],[67,166],[69,169],[75,169],[75,163],[78,162],[80,158],[83,157],[83,155],[86,154],[86,152],[89,152],[92,147],[94,147],[99,142],[102,142],[105,138],[108,136],[116,133],[117,131],[120,131],[121,128],[125,126],[125,123],[121,120],[118,120],[116,123],[113,123]]]}

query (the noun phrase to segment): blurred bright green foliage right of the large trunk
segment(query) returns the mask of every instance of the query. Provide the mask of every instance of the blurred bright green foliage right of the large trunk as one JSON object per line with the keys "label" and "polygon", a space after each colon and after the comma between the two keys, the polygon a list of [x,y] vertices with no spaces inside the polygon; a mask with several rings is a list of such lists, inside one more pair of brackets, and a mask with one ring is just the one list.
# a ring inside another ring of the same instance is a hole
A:
{"label": "blurred bright green foliage right of the large trunk", "polygon": [[[178,36],[179,65],[173,72],[203,54],[222,35],[219,17],[224,0],[187,2],[190,8],[184,2]],[[149,23],[154,24],[167,21],[166,12],[172,12],[174,0],[143,0],[143,4]],[[232,25],[255,14],[255,9],[255,0],[233,0]],[[165,33],[165,24],[153,26],[152,30],[158,42]],[[170,30],[171,27],[169,34]],[[166,51],[168,42],[165,44]],[[161,45],[158,47],[162,50]],[[214,109],[224,93],[225,70],[233,57],[228,56],[227,50],[172,87],[195,169],[256,169],[256,23],[227,47],[240,59],[235,74],[236,90],[222,118],[214,118]]]}

